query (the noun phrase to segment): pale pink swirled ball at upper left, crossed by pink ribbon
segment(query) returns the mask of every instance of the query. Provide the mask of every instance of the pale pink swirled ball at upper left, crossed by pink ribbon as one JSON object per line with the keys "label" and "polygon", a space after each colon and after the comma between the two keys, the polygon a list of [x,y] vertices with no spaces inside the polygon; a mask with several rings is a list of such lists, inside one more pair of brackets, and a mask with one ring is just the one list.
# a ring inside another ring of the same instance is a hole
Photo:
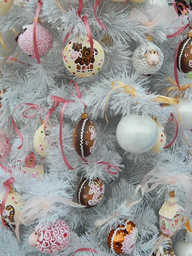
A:
{"label": "pale pink swirled ball at upper left, crossed by pink ribbon", "polygon": [[[16,35],[15,40],[23,52],[32,58],[36,58],[33,44],[33,24],[23,26],[23,30],[18,35]],[[37,23],[36,26],[36,41],[39,57],[41,58],[52,48],[53,39],[51,33],[43,26],[41,26],[40,23]]]}

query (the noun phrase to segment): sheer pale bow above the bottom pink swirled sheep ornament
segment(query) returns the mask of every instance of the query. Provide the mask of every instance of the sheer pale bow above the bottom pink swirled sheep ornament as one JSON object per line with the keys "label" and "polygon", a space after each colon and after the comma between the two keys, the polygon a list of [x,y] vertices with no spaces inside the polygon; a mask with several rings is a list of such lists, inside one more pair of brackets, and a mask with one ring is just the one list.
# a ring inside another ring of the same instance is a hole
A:
{"label": "sheer pale bow above the bottom pink swirled sheep ornament", "polygon": [[76,204],[75,202],[70,201],[58,194],[49,194],[47,197],[34,196],[30,198],[26,201],[16,222],[15,233],[19,241],[19,224],[22,223],[25,226],[29,226],[37,218],[45,217],[48,212],[52,211],[52,206],[54,203],[62,203],[76,208],[86,207],[81,204]]}

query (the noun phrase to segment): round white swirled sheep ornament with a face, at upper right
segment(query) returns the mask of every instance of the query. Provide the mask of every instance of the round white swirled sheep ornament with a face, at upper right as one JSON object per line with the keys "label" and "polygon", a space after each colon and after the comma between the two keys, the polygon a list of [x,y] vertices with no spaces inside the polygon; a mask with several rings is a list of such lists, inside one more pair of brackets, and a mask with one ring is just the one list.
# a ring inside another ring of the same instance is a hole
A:
{"label": "round white swirled sheep ornament with a face, at upper right", "polygon": [[163,64],[163,52],[157,45],[148,42],[135,49],[132,63],[141,75],[153,75]]}

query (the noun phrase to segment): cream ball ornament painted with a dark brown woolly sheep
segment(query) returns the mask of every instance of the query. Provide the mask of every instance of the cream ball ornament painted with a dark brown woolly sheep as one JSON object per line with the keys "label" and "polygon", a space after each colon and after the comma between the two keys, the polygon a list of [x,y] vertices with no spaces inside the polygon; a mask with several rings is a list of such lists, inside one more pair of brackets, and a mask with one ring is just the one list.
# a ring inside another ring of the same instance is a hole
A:
{"label": "cream ball ornament painted with a dark brown woolly sheep", "polygon": [[75,76],[89,77],[95,75],[102,68],[104,59],[104,50],[101,44],[94,39],[91,58],[90,41],[87,36],[69,41],[64,48],[65,67]]}

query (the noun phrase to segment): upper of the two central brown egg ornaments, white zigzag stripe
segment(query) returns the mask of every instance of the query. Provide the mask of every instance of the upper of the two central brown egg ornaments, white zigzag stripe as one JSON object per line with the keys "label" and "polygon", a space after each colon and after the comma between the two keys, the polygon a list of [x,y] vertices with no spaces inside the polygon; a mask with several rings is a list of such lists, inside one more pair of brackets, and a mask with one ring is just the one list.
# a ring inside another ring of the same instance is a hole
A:
{"label": "upper of the two central brown egg ornaments, white zigzag stripe", "polygon": [[88,157],[93,152],[97,140],[95,124],[88,119],[88,114],[81,115],[81,121],[73,132],[73,146],[80,157]]}

